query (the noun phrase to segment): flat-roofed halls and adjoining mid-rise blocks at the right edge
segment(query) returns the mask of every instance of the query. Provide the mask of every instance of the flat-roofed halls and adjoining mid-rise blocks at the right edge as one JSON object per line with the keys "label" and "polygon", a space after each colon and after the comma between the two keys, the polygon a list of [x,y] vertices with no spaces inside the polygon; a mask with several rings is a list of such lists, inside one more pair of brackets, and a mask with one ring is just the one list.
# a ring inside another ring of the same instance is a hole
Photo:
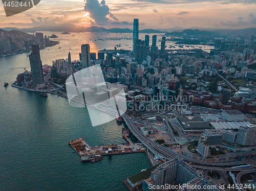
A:
{"label": "flat-roofed halls and adjoining mid-rise blocks at the right edge", "polygon": [[[250,152],[256,149],[256,125],[245,120],[239,110],[222,110],[221,114],[201,116],[178,116],[178,124],[185,134],[202,133],[197,151],[207,158],[212,148],[228,149],[232,152]],[[246,148],[244,148],[246,146]]]}

